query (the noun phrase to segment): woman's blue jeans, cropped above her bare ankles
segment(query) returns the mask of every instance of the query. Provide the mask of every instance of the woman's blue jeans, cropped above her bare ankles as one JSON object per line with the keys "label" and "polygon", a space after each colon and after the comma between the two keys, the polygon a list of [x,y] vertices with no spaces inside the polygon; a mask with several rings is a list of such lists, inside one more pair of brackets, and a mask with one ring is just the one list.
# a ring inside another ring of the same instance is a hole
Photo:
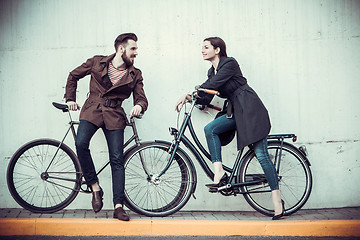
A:
{"label": "woman's blue jeans, cropped above her bare ankles", "polygon": [[[204,131],[212,162],[222,162],[221,143],[218,135],[234,129],[236,129],[234,117],[227,118],[226,115],[214,119],[205,126]],[[256,158],[259,160],[271,190],[279,189],[278,175],[267,150],[267,139],[261,139],[253,143],[253,146]]]}

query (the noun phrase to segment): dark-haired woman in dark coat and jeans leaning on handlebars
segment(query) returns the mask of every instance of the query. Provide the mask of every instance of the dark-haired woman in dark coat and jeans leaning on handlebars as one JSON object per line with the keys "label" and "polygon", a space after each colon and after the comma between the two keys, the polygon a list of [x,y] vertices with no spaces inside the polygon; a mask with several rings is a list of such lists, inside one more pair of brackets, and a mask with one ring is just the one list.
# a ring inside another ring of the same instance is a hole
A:
{"label": "dark-haired woman in dark coat and jeans leaning on handlebars", "polygon": [[[271,128],[268,112],[255,91],[247,84],[246,78],[242,76],[236,60],[227,57],[226,44],[221,38],[206,38],[203,42],[202,55],[204,60],[212,63],[212,67],[208,71],[208,80],[200,87],[217,90],[228,100],[227,114],[216,118],[204,128],[214,166],[213,183],[206,186],[210,189],[217,188],[226,181],[219,135],[236,129],[238,150],[250,144],[254,146],[256,157],[272,190],[275,211],[272,219],[280,219],[284,214],[284,201],[281,200],[278,176],[267,150],[267,135]],[[187,94],[179,99],[176,104],[177,111],[186,99],[191,100],[191,95]],[[204,103],[204,101],[209,103],[211,99],[199,93],[197,102]]]}

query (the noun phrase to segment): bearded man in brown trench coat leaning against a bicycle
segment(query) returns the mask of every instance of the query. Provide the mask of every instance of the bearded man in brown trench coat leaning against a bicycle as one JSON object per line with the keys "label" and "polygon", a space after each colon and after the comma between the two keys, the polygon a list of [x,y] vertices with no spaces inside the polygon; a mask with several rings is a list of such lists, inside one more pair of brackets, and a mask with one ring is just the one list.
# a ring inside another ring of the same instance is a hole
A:
{"label": "bearded man in brown trench coat leaning against a bicycle", "polygon": [[115,54],[95,56],[70,72],[66,84],[65,100],[69,109],[79,110],[76,103],[77,81],[91,75],[89,96],[80,112],[80,124],[75,141],[77,155],[86,183],[92,189],[92,208],[99,212],[104,192],[99,185],[89,144],[95,132],[102,128],[108,149],[112,173],[114,218],[128,221],[123,209],[125,170],[123,165],[124,128],[126,114],[123,100],[133,94],[134,107],[130,117],[146,111],[148,101],[143,89],[141,71],[133,66],[137,56],[137,36],[124,33],[115,40]]}

